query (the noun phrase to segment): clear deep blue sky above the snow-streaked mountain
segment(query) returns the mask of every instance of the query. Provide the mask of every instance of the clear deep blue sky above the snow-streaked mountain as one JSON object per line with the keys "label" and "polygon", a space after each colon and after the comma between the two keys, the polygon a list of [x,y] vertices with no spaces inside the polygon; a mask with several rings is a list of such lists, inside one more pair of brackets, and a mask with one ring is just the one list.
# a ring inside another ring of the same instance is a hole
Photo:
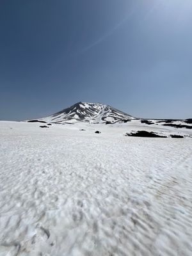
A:
{"label": "clear deep blue sky above the snow-streaked mountain", "polygon": [[0,120],[101,102],[192,118],[191,0],[1,0]]}

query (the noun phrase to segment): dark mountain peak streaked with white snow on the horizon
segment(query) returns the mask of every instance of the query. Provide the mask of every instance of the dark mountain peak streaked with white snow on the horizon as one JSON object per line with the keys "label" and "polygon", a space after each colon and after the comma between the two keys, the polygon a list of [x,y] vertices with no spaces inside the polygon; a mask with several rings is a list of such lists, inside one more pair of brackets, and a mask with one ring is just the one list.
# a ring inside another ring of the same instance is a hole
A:
{"label": "dark mountain peak streaked with white snow on the horizon", "polygon": [[131,119],[136,118],[105,104],[77,102],[70,108],[63,109],[58,113],[38,120],[52,122],[55,124],[73,124],[76,122],[126,122]]}

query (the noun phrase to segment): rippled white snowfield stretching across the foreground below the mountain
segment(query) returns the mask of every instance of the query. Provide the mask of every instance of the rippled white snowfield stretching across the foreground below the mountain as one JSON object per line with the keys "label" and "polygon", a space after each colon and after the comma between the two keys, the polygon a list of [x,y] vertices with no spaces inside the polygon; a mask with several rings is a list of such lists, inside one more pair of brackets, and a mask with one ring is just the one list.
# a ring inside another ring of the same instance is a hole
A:
{"label": "rippled white snowfield stretching across the foreground below the mountain", "polygon": [[1,256],[192,255],[191,138],[40,125],[0,122]]}

